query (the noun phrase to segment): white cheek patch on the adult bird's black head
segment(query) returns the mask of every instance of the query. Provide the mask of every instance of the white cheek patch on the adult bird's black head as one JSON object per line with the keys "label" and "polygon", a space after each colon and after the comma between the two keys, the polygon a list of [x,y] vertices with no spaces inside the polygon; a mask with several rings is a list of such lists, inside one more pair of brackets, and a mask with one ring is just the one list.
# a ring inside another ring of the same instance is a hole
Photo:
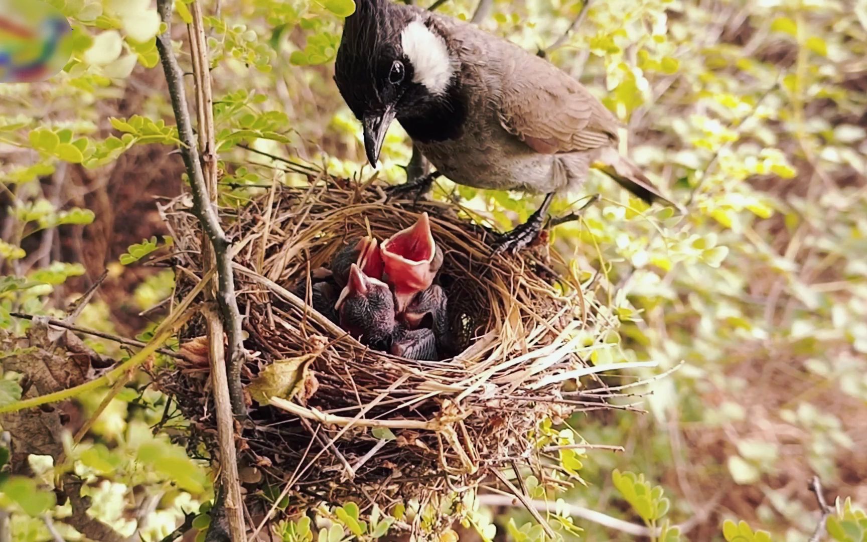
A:
{"label": "white cheek patch on the adult bird's black head", "polygon": [[424,85],[434,95],[446,92],[454,75],[454,66],[442,36],[437,36],[425,23],[416,19],[403,29],[401,45],[404,55],[413,64],[413,81]]}

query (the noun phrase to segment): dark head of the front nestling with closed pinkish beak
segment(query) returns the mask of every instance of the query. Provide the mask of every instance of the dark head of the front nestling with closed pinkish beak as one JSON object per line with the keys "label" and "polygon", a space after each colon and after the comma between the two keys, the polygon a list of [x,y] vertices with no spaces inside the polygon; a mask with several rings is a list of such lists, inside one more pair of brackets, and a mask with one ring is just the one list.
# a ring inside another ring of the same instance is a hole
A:
{"label": "dark head of the front nestling with closed pinkish beak", "polygon": [[387,349],[394,333],[394,297],[388,284],[351,264],[349,280],[335,305],[340,326],[375,349]]}

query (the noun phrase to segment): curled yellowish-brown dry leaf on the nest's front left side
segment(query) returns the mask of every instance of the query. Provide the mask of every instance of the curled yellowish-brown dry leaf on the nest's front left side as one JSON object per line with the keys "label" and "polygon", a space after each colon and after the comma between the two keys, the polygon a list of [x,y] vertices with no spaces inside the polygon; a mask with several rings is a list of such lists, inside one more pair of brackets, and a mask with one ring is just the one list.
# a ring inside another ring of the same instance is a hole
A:
{"label": "curled yellowish-brown dry leaf on the nest's front left side", "polygon": [[247,391],[260,405],[268,404],[271,397],[297,398],[298,402],[306,403],[319,388],[316,376],[309,370],[316,356],[319,352],[271,363],[247,385]]}

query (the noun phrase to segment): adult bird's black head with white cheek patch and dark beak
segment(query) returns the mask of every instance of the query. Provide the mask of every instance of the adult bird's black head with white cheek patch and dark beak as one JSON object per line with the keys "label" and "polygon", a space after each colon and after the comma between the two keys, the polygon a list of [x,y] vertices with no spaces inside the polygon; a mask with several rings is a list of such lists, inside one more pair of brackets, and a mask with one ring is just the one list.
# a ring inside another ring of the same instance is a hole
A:
{"label": "adult bird's black head with white cheek patch and dark beak", "polygon": [[453,84],[457,61],[432,16],[388,0],[359,0],[343,26],[335,82],[362,121],[364,148],[376,167],[395,118],[422,114]]}

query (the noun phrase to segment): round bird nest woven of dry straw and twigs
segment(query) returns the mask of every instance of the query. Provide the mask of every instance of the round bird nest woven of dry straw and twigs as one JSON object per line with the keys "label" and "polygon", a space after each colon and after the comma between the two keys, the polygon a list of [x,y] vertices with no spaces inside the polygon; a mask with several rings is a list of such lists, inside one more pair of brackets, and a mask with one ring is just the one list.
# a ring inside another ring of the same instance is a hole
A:
{"label": "round bird nest woven of dry straw and twigs", "polygon": [[[180,198],[162,209],[178,249],[179,296],[202,277],[199,225],[188,207]],[[387,509],[473,488],[503,466],[563,480],[563,468],[547,460],[557,452],[544,449],[550,432],[544,436],[540,424],[610,408],[597,379],[595,389],[578,382],[596,372],[585,358],[604,346],[610,326],[547,243],[492,258],[492,233],[471,212],[455,203],[387,202],[369,183],[277,186],[234,212],[225,223],[250,395],[237,438],[242,471],[257,472],[249,510],[267,509],[287,486],[298,506],[360,500]],[[347,239],[388,238],[421,212],[443,251],[439,281],[457,356],[417,361],[370,349],[292,293]],[[184,335],[204,335],[203,323]],[[156,378],[191,421],[187,446],[197,454],[202,444],[216,449],[206,364],[179,360]],[[560,473],[542,475],[552,464]]]}

